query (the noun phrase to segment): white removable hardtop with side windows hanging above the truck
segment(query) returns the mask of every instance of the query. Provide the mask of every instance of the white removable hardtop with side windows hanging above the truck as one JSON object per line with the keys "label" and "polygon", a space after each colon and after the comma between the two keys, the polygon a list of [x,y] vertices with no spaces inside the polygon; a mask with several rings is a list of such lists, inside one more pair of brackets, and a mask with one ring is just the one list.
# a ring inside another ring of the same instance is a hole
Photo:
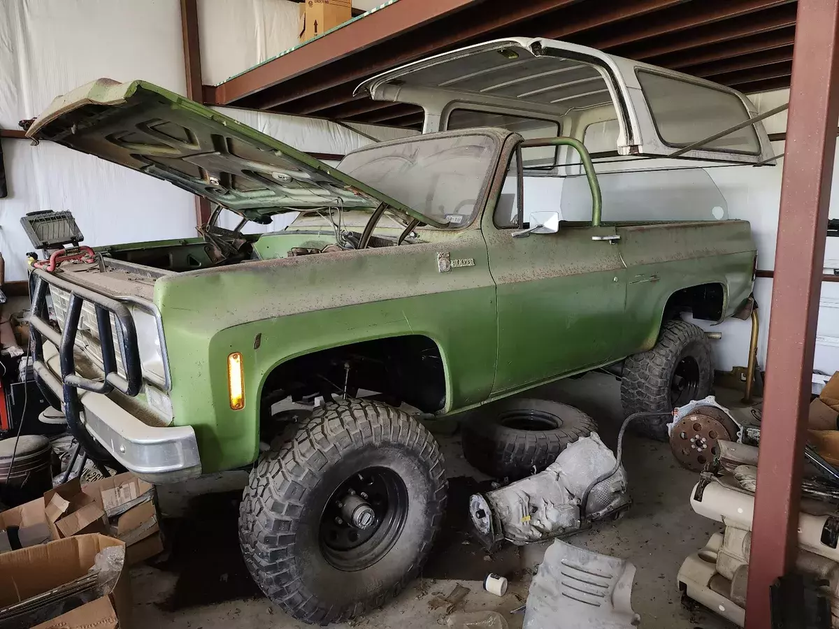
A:
{"label": "white removable hardtop with side windows hanging above the truck", "polygon": [[[589,146],[589,132],[617,138],[612,151],[618,155],[656,158],[758,114],[748,97],[729,87],[553,39],[497,39],[435,55],[374,76],[356,92],[419,105],[423,133],[503,127],[524,138],[563,135]],[[525,165],[555,169],[560,153],[542,150]],[[774,163],[759,121],[678,157]],[[572,159],[569,154],[562,161]]]}

